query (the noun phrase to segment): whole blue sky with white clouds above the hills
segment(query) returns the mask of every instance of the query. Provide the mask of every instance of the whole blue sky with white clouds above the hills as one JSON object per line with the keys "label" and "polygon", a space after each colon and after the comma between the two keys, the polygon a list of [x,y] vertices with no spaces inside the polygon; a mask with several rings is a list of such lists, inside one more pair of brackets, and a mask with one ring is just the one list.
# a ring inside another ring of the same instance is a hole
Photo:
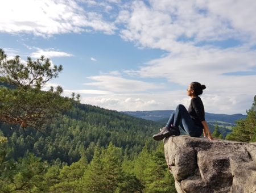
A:
{"label": "whole blue sky with white clouds above the hills", "polygon": [[0,47],[63,65],[64,95],[118,111],[168,110],[192,81],[207,112],[245,114],[256,94],[256,1],[2,1]]}

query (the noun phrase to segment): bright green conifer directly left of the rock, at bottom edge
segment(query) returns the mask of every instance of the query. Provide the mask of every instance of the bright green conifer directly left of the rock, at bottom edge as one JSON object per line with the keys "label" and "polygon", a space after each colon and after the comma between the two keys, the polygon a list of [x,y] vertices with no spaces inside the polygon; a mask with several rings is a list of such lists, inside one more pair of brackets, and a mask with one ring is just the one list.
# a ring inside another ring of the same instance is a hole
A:
{"label": "bright green conifer directly left of the rock, at bottom edge", "polygon": [[133,161],[124,161],[123,170],[135,174],[144,186],[143,192],[176,192],[174,177],[166,166],[163,144],[150,150],[146,144]]}

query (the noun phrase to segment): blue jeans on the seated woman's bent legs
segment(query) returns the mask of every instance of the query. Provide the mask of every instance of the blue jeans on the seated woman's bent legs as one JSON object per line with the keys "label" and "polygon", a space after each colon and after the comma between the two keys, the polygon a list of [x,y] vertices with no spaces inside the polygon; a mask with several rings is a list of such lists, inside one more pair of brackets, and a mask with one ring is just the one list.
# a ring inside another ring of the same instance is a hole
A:
{"label": "blue jeans on the seated woman's bent legs", "polygon": [[170,128],[171,125],[174,125],[174,127],[180,127],[187,135],[191,137],[200,137],[203,133],[203,128],[195,125],[187,109],[182,104],[179,104],[176,107],[176,110],[172,112],[166,127]]}

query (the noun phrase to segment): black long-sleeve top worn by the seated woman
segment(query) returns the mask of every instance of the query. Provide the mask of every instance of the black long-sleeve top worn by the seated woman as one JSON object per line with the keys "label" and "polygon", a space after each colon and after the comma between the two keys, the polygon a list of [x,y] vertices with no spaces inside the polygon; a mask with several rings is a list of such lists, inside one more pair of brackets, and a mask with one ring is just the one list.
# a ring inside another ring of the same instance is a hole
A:
{"label": "black long-sleeve top worn by the seated woman", "polygon": [[204,128],[203,124],[201,123],[201,121],[205,120],[204,104],[199,96],[191,99],[191,103],[188,107],[188,113],[196,125]]}

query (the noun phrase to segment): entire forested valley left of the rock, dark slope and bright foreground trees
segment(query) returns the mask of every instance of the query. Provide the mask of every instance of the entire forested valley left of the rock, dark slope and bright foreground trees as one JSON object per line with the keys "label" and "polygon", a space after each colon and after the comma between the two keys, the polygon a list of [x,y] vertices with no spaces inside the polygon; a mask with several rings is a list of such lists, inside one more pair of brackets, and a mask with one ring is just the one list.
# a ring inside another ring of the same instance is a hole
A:
{"label": "entire forested valley left of the rock, dark slope and bright foreground trees", "polygon": [[161,126],[79,102],[48,133],[1,123],[2,152],[15,167],[2,173],[0,190],[175,192],[163,144],[151,138]]}

